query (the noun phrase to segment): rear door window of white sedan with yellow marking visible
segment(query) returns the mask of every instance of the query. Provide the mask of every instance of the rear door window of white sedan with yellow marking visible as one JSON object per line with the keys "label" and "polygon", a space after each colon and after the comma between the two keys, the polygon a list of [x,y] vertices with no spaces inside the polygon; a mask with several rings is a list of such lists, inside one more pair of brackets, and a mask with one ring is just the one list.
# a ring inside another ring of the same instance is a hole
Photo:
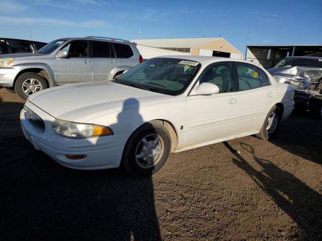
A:
{"label": "rear door window of white sedan with yellow marking visible", "polygon": [[261,87],[261,78],[256,66],[236,62],[236,68],[240,91]]}

